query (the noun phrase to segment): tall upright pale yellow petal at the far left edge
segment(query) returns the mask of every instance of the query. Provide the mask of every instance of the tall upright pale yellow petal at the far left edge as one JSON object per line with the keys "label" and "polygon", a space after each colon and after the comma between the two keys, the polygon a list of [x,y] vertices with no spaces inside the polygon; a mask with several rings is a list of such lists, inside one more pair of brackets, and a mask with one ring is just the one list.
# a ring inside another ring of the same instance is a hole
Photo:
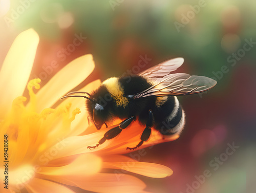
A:
{"label": "tall upright pale yellow petal at the far left edge", "polygon": [[6,115],[12,101],[22,96],[36,54],[39,37],[33,29],[20,33],[14,40],[0,72],[0,119]]}

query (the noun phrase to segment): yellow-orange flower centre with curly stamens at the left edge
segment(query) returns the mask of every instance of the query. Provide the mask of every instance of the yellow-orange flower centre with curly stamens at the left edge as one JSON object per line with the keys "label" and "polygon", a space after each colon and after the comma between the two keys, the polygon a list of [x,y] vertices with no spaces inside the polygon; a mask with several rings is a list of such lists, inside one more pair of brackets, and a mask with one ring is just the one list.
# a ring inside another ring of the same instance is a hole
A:
{"label": "yellow-orange flower centre with curly stamens at the left edge", "polygon": [[[71,122],[80,113],[78,108],[71,111],[71,103],[61,104],[57,109],[36,112],[37,102],[33,88],[39,89],[39,82],[40,79],[33,79],[28,83],[28,105],[24,105],[26,97],[17,97],[10,114],[0,122],[0,143],[4,144],[3,136],[8,136],[8,150],[4,154],[4,149],[1,149],[0,153],[6,155],[6,160],[3,161],[9,161],[9,184],[16,189],[24,188],[24,184],[36,175],[39,167],[44,167],[55,159],[58,151],[52,147],[69,136]],[[5,168],[0,166],[0,172],[4,174],[2,170]]]}

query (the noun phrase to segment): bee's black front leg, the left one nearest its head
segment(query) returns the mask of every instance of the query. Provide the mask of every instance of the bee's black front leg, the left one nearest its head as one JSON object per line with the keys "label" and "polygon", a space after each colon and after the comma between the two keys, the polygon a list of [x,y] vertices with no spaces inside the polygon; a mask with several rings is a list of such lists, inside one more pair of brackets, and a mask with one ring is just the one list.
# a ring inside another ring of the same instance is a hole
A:
{"label": "bee's black front leg, the left one nearest its head", "polygon": [[116,137],[118,134],[121,133],[121,131],[126,128],[127,126],[129,126],[132,121],[135,119],[135,117],[130,117],[128,119],[125,119],[124,121],[122,121],[118,126],[112,128],[111,130],[109,130],[108,132],[105,133],[104,137],[99,140],[98,144],[94,145],[94,146],[88,146],[88,149],[95,149],[97,146],[101,145],[102,143],[104,143],[106,140],[112,139],[114,137]]}

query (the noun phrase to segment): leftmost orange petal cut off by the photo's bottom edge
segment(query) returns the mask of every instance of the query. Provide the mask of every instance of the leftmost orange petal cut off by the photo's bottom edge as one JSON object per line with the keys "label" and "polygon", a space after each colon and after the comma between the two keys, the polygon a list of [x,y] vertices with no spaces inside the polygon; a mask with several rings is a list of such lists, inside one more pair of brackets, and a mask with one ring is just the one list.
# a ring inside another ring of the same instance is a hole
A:
{"label": "leftmost orange petal cut off by the photo's bottom edge", "polygon": [[49,192],[61,192],[61,193],[75,193],[75,191],[54,183],[48,180],[42,180],[38,178],[34,178],[31,183],[26,184],[26,189],[29,193],[49,193]]}

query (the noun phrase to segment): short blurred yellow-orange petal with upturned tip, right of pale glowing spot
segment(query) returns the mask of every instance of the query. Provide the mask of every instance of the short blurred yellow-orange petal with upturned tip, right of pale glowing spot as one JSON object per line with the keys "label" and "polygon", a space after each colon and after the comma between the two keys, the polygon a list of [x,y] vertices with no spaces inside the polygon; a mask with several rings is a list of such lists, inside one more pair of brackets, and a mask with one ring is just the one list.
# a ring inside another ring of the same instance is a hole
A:
{"label": "short blurred yellow-orange petal with upturned tip, right of pale glowing spot", "polygon": [[72,163],[61,167],[39,167],[38,174],[47,176],[89,176],[101,169],[101,159],[93,154],[83,154]]}

